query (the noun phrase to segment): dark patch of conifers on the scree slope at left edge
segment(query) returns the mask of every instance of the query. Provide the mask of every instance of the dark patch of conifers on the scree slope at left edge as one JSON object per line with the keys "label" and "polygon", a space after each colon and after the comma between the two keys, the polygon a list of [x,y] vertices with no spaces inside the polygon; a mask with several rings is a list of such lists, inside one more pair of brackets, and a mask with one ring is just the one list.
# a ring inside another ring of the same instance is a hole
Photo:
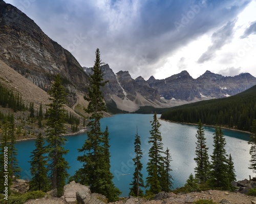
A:
{"label": "dark patch of conifers on the scree slope at left edge", "polygon": [[26,106],[19,94],[14,95],[12,91],[0,84],[0,105],[4,108],[8,107],[17,110],[25,110]]}

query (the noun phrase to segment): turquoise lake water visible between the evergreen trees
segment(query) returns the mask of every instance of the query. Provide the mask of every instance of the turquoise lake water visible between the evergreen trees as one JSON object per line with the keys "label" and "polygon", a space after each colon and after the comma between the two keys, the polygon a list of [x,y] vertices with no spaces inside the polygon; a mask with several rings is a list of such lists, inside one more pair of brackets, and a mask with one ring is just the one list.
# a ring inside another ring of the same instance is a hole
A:
{"label": "turquoise lake water visible between the evergreen trees", "polygon": [[[159,116],[160,117],[160,116]],[[136,126],[138,127],[138,134],[141,137],[141,146],[143,150],[143,177],[146,178],[146,163],[148,161],[147,152],[150,149],[148,145],[148,137],[150,136],[151,122],[153,115],[139,115],[139,114],[123,114],[115,115],[110,118],[103,118],[101,120],[102,130],[106,125],[109,127],[110,133],[110,152],[111,152],[111,172],[114,174],[113,182],[116,187],[122,191],[121,196],[127,196],[130,192],[129,184],[132,181],[134,166],[132,158],[134,158],[134,138],[136,134]],[[194,174],[196,163],[194,161],[196,148],[196,125],[185,125],[178,123],[170,123],[161,121],[160,131],[163,139],[164,150],[168,147],[170,155],[172,156],[172,176],[174,178],[174,188],[182,187],[190,173]],[[213,133],[214,127],[204,127],[208,153],[212,153]],[[237,179],[241,180],[253,176],[252,170],[249,167],[249,148],[248,145],[249,134],[224,130],[223,133],[226,139],[226,151],[231,153],[234,162],[234,169],[236,170]],[[69,153],[66,155],[66,160],[69,162],[69,174],[81,167],[77,162],[78,148],[84,143],[87,138],[85,133],[67,136],[66,149]],[[20,178],[30,179],[30,155],[34,150],[35,142],[33,140],[21,141],[16,144],[18,149],[19,166],[22,168]]]}

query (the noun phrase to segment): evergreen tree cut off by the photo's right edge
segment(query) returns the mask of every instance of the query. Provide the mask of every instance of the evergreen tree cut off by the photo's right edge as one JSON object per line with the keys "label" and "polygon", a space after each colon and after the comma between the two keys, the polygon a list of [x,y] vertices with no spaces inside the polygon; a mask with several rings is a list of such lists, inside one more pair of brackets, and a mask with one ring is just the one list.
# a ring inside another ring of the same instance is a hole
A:
{"label": "evergreen tree cut off by the photo's right edge", "polygon": [[253,120],[252,126],[251,126],[251,136],[250,136],[250,141],[248,142],[251,147],[250,147],[250,155],[251,155],[251,160],[250,160],[250,167],[249,169],[252,169],[253,172],[256,172],[256,120]]}

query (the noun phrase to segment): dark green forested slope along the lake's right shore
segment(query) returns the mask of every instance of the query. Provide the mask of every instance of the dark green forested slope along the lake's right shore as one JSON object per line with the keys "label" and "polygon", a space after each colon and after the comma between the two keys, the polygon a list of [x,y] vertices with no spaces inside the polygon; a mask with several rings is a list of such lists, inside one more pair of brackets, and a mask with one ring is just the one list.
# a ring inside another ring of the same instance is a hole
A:
{"label": "dark green forested slope along the lake's right shore", "polygon": [[220,125],[239,130],[250,131],[252,121],[256,119],[256,86],[243,93],[222,99],[212,99],[169,108],[161,119]]}

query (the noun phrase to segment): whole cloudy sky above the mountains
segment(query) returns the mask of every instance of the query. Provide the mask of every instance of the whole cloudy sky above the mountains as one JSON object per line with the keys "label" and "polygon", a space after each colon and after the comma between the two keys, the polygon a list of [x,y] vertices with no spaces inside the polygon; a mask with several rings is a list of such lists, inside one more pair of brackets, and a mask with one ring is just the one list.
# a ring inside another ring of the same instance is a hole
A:
{"label": "whole cloudy sky above the mountains", "polygon": [[102,62],[133,78],[186,70],[256,77],[255,0],[5,0],[82,66]]}

